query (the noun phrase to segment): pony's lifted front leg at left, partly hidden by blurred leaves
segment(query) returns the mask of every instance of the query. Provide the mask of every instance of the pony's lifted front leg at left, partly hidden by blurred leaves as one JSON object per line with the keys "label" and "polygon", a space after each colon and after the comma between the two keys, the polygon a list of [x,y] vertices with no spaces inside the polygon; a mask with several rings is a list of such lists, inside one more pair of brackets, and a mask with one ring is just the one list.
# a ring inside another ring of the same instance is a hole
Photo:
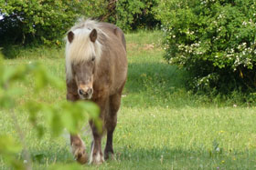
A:
{"label": "pony's lifted front leg at left, partly hidden by blurred leaves", "polygon": [[[80,97],[77,94],[77,87],[74,83],[67,84],[67,90],[67,100],[72,102],[79,100]],[[70,145],[75,159],[80,164],[86,164],[88,162],[88,155],[85,152],[85,145],[80,135],[70,135]]]}

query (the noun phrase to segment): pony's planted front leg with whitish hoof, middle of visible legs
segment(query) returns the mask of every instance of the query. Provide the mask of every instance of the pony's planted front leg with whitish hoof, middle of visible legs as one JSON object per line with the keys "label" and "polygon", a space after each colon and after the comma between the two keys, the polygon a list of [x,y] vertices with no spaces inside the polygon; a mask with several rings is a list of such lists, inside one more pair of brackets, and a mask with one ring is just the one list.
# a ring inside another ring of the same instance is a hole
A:
{"label": "pony's planted front leg with whitish hoof, middle of visible legs", "polygon": [[[101,108],[100,118],[102,120],[104,115],[106,115],[106,111],[108,108],[108,99],[107,97],[101,97],[94,102],[98,104]],[[102,138],[103,129],[97,129],[97,127],[95,126],[92,120],[90,121],[90,125],[91,125],[91,131],[93,135],[93,142],[91,145],[90,164],[99,165],[104,162],[104,157],[101,150],[101,138]]]}

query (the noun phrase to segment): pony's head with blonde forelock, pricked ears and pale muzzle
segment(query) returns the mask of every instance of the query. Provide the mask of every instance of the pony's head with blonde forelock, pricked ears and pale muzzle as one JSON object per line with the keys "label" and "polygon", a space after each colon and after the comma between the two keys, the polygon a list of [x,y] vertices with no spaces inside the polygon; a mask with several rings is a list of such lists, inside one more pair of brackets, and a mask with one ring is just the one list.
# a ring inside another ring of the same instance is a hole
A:
{"label": "pony's head with blonde forelock, pricked ears and pale muzzle", "polygon": [[93,75],[101,59],[102,34],[97,22],[86,20],[73,26],[67,35],[67,82],[76,82],[81,99],[91,99],[93,93]]}

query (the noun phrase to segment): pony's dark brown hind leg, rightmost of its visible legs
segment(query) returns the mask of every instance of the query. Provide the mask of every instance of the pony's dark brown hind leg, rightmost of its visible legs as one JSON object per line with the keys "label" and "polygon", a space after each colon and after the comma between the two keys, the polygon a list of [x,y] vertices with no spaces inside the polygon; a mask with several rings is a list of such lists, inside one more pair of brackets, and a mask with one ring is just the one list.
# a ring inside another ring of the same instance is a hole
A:
{"label": "pony's dark brown hind leg, rightmost of its visible legs", "polygon": [[112,149],[112,135],[117,123],[117,112],[121,104],[121,93],[110,97],[110,112],[106,115],[107,143],[104,150],[104,158],[114,159]]}

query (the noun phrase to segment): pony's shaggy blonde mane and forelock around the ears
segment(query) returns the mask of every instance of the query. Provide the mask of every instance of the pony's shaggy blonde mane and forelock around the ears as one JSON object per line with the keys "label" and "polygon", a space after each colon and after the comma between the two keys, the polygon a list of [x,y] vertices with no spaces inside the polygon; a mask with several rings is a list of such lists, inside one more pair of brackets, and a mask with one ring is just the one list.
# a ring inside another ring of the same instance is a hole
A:
{"label": "pony's shaggy blonde mane and forelock around the ears", "polygon": [[[100,28],[101,23],[87,19],[80,20],[76,25],[71,27],[69,31],[74,33],[74,39],[69,43],[66,37],[66,77],[70,81],[72,79],[72,64],[86,62],[95,57],[96,65],[101,60],[102,40],[107,35]],[[93,29],[97,31],[97,39],[91,42],[90,33]]]}

